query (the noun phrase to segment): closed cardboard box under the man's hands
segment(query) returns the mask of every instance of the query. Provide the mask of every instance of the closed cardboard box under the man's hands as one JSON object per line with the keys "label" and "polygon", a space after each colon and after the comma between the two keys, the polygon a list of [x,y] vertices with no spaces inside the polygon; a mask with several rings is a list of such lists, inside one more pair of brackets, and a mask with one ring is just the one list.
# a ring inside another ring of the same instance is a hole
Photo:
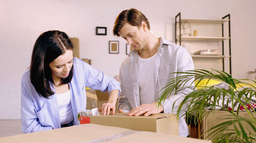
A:
{"label": "closed cardboard box under the man's hands", "polygon": [[115,115],[91,116],[91,123],[179,135],[179,120],[176,114],[159,113],[150,116],[127,116],[127,113],[117,113]]}

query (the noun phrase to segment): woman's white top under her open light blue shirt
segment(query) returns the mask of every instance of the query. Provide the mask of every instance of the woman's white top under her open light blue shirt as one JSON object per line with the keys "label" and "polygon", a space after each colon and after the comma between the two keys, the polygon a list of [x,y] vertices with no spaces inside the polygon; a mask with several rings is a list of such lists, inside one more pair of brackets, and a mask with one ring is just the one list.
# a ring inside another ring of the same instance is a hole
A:
{"label": "woman's white top under her open light blue shirt", "polygon": [[73,110],[71,105],[70,90],[63,94],[57,94],[59,105],[59,120],[61,125],[70,123],[73,120]]}

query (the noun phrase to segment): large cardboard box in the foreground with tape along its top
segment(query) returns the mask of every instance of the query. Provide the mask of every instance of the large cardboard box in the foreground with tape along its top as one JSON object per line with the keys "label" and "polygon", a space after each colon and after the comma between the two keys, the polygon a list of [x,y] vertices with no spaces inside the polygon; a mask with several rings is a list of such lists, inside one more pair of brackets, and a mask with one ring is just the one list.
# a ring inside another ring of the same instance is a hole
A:
{"label": "large cardboard box in the foreground with tape along its top", "polygon": [[0,142],[179,142],[204,143],[203,139],[183,138],[163,133],[140,132],[124,128],[84,124],[67,128],[0,138]]}

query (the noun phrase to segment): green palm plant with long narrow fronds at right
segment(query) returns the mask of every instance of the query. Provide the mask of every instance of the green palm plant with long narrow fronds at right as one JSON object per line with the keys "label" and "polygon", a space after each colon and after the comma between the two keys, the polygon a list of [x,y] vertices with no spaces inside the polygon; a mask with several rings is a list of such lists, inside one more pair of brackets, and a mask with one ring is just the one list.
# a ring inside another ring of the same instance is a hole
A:
{"label": "green palm plant with long narrow fronds at right", "polygon": [[[212,126],[207,133],[206,138],[212,142],[256,142],[256,114],[251,102],[256,95],[256,81],[249,79],[234,79],[230,74],[219,70],[190,70],[185,72],[176,72],[182,76],[170,79],[167,85],[159,91],[161,97],[159,103],[170,97],[171,92],[178,92],[184,88],[194,89],[190,94],[185,95],[179,105],[177,114],[182,113],[182,108],[186,108],[187,119],[194,119],[194,123],[202,122],[209,113],[216,110],[226,111],[230,115],[220,117],[218,120],[224,122]],[[189,87],[185,83],[193,80]],[[211,80],[218,80],[219,85],[211,86]],[[206,82],[201,85],[201,82]],[[225,86],[222,87],[221,84]],[[174,102],[175,104],[175,102]],[[174,105],[173,105],[174,107]],[[249,119],[240,117],[239,112],[246,111]]]}

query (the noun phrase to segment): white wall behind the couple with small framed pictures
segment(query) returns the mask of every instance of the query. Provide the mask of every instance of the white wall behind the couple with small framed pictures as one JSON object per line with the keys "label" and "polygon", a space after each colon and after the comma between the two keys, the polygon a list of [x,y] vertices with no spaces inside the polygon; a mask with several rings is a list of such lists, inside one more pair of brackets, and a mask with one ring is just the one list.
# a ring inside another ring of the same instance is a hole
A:
{"label": "white wall behind the couple with small framed pictures", "polygon": [[[125,41],[114,37],[116,16],[131,7],[149,19],[156,37],[174,41],[174,17],[219,19],[231,15],[233,77],[245,78],[256,68],[254,42],[256,1],[244,0],[0,0],[0,119],[20,119],[20,79],[29,67],[38,36],[58,29],[80,39],[80,58],[113,77],[127,57]],[[107,27],[107,36],[96,36],[95,27]],[[119,41],[119,54],[109,54],[109,41]]]}

